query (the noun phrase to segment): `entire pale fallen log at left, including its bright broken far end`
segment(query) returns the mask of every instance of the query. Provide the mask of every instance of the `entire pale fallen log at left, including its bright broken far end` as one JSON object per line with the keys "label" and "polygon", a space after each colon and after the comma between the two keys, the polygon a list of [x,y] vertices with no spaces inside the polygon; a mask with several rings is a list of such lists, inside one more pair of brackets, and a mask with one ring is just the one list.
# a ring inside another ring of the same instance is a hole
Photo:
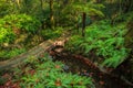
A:
{"label": "entire pale fallen log at left, including its bright broken far end", "polygon": [[57,46],[64,46],[64,43],[69,38],[66,37],[59,37],[58,41],[44,41],[43,43],[39,44],[38,46],[34,46],[30,51],[22,53],[13,58],[10,58],[8,61],[0,62],[0,70],[2,69],[10,69],[12,67],[17,67],[18,65],[22,64],[24,59],[29,58],[30,56],[39,57],[44,52],[53,50]]}

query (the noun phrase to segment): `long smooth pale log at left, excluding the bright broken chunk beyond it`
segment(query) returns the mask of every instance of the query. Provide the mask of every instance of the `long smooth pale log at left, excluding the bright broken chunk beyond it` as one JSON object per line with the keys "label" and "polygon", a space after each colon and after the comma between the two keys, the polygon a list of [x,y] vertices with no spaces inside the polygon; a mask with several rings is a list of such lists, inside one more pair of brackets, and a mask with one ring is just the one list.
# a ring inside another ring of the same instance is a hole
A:
{"label": "long smooth pale log at left, excluding the bright broken chunk beyond it", "polygon": [[22,53],[13,58],[10,58],[8,61],[3,61],[0,62],[0,70],[1,69],[10,69],[12,67],[16,67],[20,64],[23,63],[24,59],[27,59],[30,56],[34,56],[38,57],[41,53],[44,53],[45,51],[48,51],[50,47],[52,46],[52,42],[51,41],[45,41],[43,43],[41,43],[40,45],[33,47],[32,50]]}

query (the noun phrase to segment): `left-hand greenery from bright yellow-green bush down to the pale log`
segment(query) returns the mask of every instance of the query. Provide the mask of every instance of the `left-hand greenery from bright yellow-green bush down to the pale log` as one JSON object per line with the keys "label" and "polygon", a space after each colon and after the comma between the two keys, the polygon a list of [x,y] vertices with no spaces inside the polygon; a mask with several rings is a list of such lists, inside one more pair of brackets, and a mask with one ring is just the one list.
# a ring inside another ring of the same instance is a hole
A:
{"label": "left-hand greenery from bright yellow-green bush down to the pale log", "polygon": [[25,52],[22,43],[35,34],[39,28],[40,22],[27,14],[11,14],[0,19],[0,61]]}

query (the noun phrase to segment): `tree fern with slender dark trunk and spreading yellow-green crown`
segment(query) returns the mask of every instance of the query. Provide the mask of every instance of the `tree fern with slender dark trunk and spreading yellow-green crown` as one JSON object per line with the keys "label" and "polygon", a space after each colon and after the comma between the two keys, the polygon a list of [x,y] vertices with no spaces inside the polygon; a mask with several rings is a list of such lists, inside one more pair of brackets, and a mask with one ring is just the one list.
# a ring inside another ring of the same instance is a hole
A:
{"label": "tree fern with slender dark trunk and spreading yellow-green crown", "polygon": [[103,4],[95,3],[95,1],[84,0],[74,1],[72,4],[75,12],[82,15],[82,36],[85,35],[85,25],[86,25],[86,16],[104,16],[101,11],[101,8],[104,8]]}

